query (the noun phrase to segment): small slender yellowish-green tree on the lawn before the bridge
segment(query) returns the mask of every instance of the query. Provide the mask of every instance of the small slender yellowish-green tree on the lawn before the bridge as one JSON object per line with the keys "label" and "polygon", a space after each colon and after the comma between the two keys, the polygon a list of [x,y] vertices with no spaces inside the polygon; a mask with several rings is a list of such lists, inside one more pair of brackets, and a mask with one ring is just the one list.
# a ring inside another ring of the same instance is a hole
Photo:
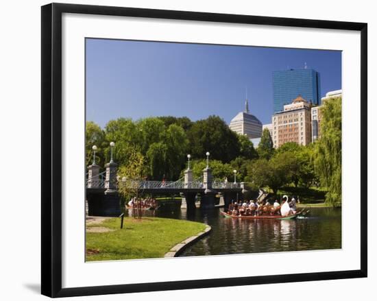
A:
{"label": "small slender yellowish-green tree on the lawn before the bridge", "polygon": [[[135,149],[130,152],[127,165],[122,165],[118,170],[118,190],[124,200],[136,198],[133,206],[133,216],[141,219],[141,202],[139,200],[141,190],[140,181],[144,180],[144,156]],[[137,209],[137,210],[136,210]]]}

